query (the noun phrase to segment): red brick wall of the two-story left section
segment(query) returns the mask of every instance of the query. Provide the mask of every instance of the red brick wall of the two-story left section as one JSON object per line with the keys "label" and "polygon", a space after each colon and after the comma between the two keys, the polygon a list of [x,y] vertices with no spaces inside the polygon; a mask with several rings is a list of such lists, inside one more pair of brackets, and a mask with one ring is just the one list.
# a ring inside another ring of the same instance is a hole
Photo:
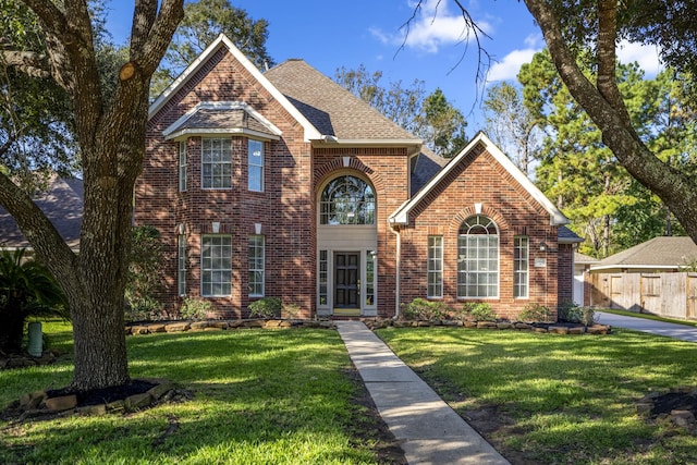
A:
{"label": "red brick wall of the two-story left section", "polygon": [[[233,188],[200,189],[200,137],[187,140],[188,189],[179,192],[179,143],[167,142],[162,131],[200,101],[244,101],[283,132],[280,142],[265,144],[265,192],[247,191],[247,140],[233,138]],[[155,114],[148,127],[144,172],[136,185],[136,224],[150,224],[162,234],[167,278],[160,295],[168,310],[178,308],[176,234],[183,223],[188,243],[187,294],[200,291],[200,238],[220,222],[220,232],[231,234],[232,295],[207,298],[217,315],[248,315],[247,243],[254,224],[266,236],[267,296],[282,296],[301,305],[309,316],[315,305],[315,204],[302,186],[310,185],[313,159],[303,129],[270,94],[223,50],[197,72]],[[308,221],[308,219],[310,219]]]}

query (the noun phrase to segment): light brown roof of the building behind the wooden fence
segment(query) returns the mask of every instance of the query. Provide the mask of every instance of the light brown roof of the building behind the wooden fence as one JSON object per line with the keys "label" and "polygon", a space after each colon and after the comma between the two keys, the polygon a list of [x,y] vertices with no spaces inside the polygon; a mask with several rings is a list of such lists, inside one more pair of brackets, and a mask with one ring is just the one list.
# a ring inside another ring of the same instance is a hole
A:
{"label": "light brown roof of the building behind the wooden fence", "polygon": [[697,245],[690,237],[659,236],[611,255],[590,269],[676,269],[693,260],[697,260]]}

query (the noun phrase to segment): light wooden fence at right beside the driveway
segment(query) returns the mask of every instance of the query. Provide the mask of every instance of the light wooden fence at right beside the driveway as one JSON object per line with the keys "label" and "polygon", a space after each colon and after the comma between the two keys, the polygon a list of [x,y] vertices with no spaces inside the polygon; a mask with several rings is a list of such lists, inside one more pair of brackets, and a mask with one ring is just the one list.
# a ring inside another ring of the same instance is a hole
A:
{"label": "light wooden fence at right beside the driveway", "polygon": [[697,273],[590,273],[592,307],[697,319]]}

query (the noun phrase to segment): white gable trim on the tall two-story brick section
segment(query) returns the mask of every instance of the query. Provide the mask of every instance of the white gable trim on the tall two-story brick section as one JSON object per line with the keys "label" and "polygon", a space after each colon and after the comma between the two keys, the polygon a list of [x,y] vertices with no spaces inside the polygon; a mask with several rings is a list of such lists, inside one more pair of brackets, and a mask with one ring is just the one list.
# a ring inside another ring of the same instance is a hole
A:
{"label": "white gable trim on the tall two-story brick section", "polygon": [[213,40],[206,50],[198,56],[196,60],[192,64],[186,68],[179,75],[176,79],[170,86],[164,89],[164,91],[150,105],[148,110],[148,118],[152,118],[160,111],[164,105],[170,100],[170,98],[176,94],[176,91],[184,86],[198,70],[200,70],[206,62],[222,47],[225,47],[228,51],[244,66],[244,69],[252,74],[255,79],[259,82],[259,84],[269,93],[273,98],[281,103],[281,106],[303,126],[305,130],[305,140],[318,140],[321,138],[321,134],[317,131],[317,129],[307,121],[305,115],[301,113],[295,106],[293,106],[288,98],[279,89],[277,89],[267,79],[264,74],[249,61],[247,57],[244,56],[235,47],[235,45],[224,34],[219,35],[216,40]]}

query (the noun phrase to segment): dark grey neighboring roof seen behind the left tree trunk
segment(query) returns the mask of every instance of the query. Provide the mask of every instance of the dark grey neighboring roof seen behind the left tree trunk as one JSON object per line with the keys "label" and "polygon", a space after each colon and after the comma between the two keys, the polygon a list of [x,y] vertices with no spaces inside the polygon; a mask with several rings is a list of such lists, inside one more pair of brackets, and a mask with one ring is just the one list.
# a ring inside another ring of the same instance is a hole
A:
{"label": "dark grey neighboring roof seen behind the left tree trunk", "polygon": [[[46,213],[70,248],[80,249],[80,229],[83,223],[83,181],[77,178],[50,180],[46,191],[34,196],[34,203]],[[0,207],[0,248],[32,249],[14,218]]]}

